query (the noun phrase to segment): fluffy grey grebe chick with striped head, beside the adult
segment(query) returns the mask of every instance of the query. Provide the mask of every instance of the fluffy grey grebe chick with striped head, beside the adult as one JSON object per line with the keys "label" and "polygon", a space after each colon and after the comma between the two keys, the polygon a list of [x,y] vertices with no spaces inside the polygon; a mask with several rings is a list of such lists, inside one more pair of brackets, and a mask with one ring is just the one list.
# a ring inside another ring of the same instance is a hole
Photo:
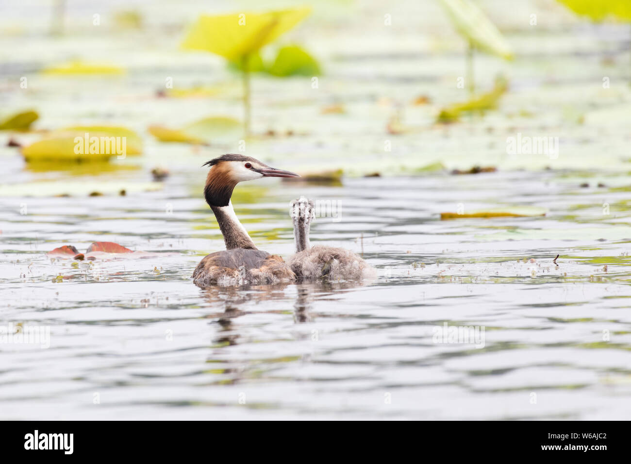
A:
{"label": "fluffy grey grebe chick with striped head, beside the adult", "polygon": [[301,196],[292,201],[290,215],[296,254],[288,259],[297,278],[345,280],[376,275],[366,261],[352,251],[326,245],[310,246],[309,227],[315,217],[314,202]]}

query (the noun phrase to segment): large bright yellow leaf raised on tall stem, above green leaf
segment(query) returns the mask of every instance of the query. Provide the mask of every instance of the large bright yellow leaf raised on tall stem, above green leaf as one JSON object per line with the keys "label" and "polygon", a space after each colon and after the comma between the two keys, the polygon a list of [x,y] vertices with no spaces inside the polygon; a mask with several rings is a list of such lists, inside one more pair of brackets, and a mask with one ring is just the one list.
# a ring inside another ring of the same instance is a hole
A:
{"label": "large bright yellow leaf raised on tall stem, above green leaf", "polygon": [[189,30],[182,47],[209,51],[228,61],[238,61],[295,27],[310,11],[310,8],[298,8],[266,13],[202,15]]}

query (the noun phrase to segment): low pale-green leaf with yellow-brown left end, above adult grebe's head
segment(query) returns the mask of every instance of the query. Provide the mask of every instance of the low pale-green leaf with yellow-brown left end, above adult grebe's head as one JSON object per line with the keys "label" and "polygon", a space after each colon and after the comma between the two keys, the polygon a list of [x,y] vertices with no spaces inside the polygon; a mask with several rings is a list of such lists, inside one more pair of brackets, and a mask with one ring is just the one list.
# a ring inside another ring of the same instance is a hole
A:
{"label": "low pale-green leaf with yellow-brown left end, above adult grebe's head", "polygon": [[163,142],[209,143],[238,140],[241,123],[232,117],[206,117],[182,129],[150,126],[149,132]]}

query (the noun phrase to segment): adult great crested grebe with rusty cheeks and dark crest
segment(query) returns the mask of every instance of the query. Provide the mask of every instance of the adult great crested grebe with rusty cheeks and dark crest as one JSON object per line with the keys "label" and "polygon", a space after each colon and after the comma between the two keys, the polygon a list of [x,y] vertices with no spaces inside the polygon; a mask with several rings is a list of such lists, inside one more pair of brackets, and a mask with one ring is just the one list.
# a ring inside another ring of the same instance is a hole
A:
{"label": "adult great crested grebe with rusty cheeks and dark crest", "polygon": [[221,155],[204,163],[206,165],[210,166],[210,170],[204,197],[215,213],[226,250],[211,253],[199,261],[192,275],[195,285],[259,285],[295,280],[293,271],[283,258],[254,246],[235,215],[230,197],[239,182],[261,177],[300,176],[243,155]]}

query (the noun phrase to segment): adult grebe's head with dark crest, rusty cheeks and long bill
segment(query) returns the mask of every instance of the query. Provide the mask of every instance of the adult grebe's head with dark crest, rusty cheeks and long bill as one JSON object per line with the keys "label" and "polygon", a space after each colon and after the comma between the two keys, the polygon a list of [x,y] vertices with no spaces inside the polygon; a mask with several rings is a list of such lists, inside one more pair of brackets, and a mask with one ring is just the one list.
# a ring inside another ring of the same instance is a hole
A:
{"label": "adult grebe's head with dark crest, rusty cheeks and long bill", "polygon": [[221,155],[203,164],[210,166],[204,197],[210,206],[228,206],[232,190],[239,182],[261,177],[300,177],[290,171],[276,169],[256,158],[244,155]]}

